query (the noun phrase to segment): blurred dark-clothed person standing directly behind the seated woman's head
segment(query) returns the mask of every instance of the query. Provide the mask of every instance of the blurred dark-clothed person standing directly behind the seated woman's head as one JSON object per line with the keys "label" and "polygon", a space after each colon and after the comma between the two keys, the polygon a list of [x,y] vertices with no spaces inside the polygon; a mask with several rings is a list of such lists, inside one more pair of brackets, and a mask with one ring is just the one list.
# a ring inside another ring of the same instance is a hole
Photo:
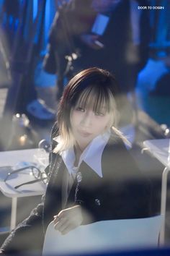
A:
{"label": "blurred dark-clothed person standing directly behind the seated woman's head", "polygon": [[129,119],[122,124],[131,121],[127,93],[134,92],[138,72],[148,59],[150,35],[148,11],[139,10],[139,5],[146,6],[147,1],[73,0],[58,9],[44,63],[47,72],[58,74],[57,100],[63,92],[65,75],[102,67],[120,82],[118,102],[124,118]]}

